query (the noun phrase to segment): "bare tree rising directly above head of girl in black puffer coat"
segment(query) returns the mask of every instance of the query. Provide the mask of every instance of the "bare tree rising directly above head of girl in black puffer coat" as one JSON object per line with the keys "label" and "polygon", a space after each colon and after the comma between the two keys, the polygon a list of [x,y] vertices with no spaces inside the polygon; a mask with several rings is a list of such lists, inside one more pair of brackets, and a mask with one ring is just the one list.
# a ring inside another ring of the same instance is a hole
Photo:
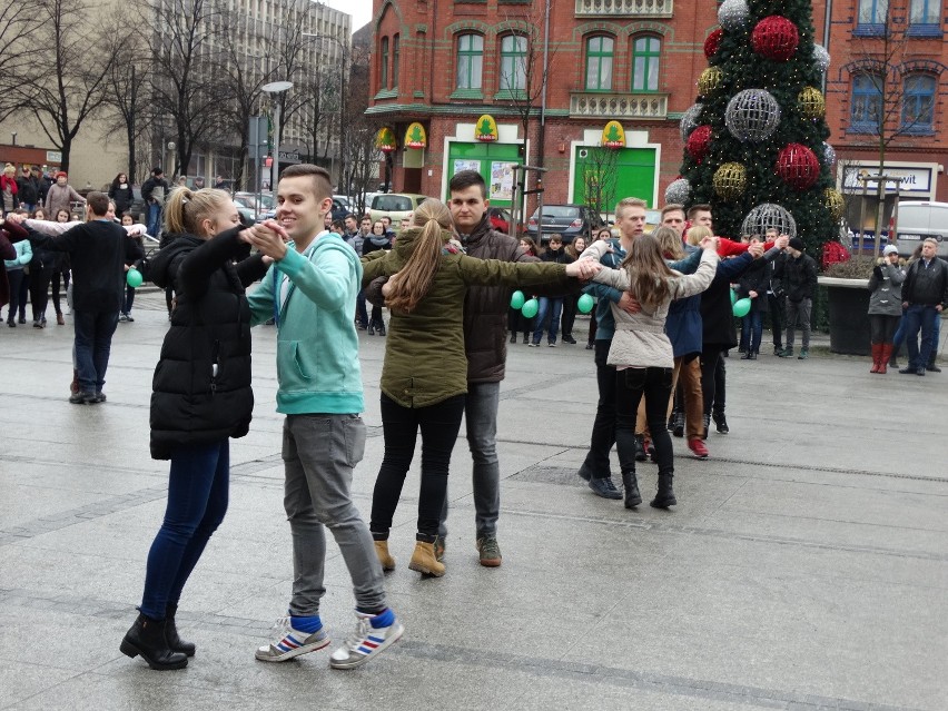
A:
{"label": "bare tree rising directly above head of girl in black puffer coat", "polygon": [[220,131],[233,101],[217,76],[217,40],[231,17],[223,0],[162,0],[155,6],[141,0],[139,11],[140,24],[149,28],[147,100],[159,120],[167,117],[172,124],[177,176],[187,171],[195,148]]}

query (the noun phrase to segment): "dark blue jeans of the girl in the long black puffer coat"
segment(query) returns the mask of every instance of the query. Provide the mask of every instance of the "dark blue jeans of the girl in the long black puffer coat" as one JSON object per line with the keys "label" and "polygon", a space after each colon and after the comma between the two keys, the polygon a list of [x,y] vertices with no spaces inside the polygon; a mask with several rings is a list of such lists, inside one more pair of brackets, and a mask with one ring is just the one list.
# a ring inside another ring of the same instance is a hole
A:
{"label": "dark blue jeans of the girl in the long black puffer coat", "polygon": [[181,590],[197,565],[224,514],[230,477],[230,444],[177,447],[171,454],[168,507],[151,550],[145,574],[141,612],[164,620],[169,604],[178,604]]}

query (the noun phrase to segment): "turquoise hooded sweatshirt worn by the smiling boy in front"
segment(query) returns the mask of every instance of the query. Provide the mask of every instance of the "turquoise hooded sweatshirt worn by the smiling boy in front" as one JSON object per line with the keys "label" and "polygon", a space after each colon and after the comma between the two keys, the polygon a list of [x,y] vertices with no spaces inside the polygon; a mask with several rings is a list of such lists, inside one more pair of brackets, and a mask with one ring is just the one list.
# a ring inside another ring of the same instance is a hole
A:
{"label": "turquoise hooded sweatshirt worn by the smiling boy in front", "polygon": [[[285,279],[284,277],[288,277]],[[251,325],[277,324],[277,412],[359,414],[364,409],[354,315],[358,256],[323,233],[303,254],[293,243],[248,297]]]}

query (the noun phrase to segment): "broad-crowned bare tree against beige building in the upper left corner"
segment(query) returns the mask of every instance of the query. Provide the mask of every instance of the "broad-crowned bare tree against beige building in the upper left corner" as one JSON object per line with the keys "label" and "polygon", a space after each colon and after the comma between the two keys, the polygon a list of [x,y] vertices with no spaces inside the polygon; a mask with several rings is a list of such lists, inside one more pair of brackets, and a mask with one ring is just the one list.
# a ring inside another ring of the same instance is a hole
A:
{"label": "broad-crowned bare tree against beige building in the upper left corner", "polygon": [[68,171],[76,135],[106,100],[115,32],[90,21],[92,8],[85,0],[41,0],[37,13],[32,39],[43,51],[30,52],[31,80],[18,82],[10,93],[37,118]]}

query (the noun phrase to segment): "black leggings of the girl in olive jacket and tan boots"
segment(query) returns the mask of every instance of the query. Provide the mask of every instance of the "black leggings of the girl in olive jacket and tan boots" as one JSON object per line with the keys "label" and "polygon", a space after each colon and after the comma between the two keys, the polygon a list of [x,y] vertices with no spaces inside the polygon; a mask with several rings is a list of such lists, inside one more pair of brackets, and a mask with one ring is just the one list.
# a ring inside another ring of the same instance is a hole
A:
{"label": "black leggings of the girl in olive jacket and tan boots", "polygon": [[451,453],[461,431],[465,395],[455,395],[427,407],[403,407],[382,394],[382,433],[385,455],[372,494],[369,530],[376,541],[388,539],[392,519],[405,475],[412,466],[418,429],[422,431],[422,491],[418,496],[419,541],[433,543],[437,537],[441,512],[447,497]]}

